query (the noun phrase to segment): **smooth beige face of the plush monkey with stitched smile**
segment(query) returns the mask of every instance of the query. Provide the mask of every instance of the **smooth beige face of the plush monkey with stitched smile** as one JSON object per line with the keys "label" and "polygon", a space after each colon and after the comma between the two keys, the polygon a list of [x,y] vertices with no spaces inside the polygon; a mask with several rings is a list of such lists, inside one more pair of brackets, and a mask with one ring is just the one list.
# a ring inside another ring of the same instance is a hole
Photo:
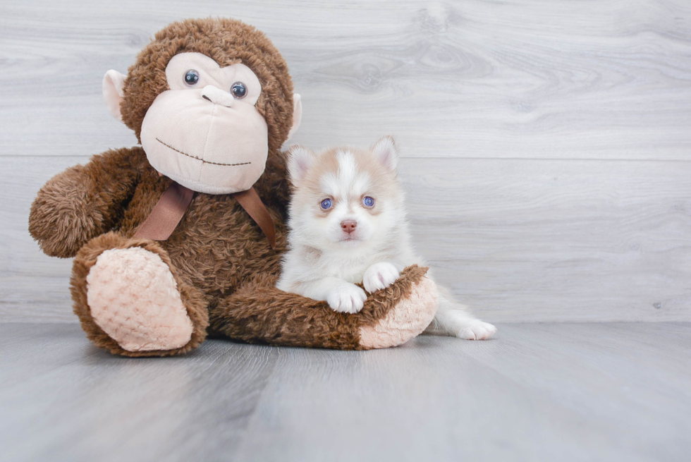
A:
{"label": "smooth beige face of the plush monkey with stitched smile", "polygon": [[262,92],[247,66],[221,68],[200,53],[173,56],[162,92],[142,122],[142,147],[161,174],[200,193],[252,187],[267,162],[267,123],[255,108]]}

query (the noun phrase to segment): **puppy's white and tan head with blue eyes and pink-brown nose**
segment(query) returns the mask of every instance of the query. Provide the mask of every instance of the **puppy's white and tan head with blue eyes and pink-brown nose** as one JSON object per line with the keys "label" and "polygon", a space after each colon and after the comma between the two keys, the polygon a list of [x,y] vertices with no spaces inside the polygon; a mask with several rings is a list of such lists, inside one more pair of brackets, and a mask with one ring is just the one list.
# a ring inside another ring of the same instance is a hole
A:
{"label": "puppy's white and tan head with blue eyes and pink-brown nose", "polygon": [[397,162],[390,136],[366,150],[336,147],[314,153],[291,147],[293,238],[322,250],[386,245],[405,219]]}

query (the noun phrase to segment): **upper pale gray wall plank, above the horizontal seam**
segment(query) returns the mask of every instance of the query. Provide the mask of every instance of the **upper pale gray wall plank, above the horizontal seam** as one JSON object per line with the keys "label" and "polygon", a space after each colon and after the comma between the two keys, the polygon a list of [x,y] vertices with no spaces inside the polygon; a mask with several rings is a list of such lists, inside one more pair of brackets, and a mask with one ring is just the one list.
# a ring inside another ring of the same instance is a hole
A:
{"label": "upper pale gray wall plank, above the horizontal seam", "polygon": [[398,135],[410,157],[687,159],[691,4],[609,1],[15,1],[0,6],[0,152],[133,143],[104,109],[172,20],[232,16],[286,56],[295,141]]}

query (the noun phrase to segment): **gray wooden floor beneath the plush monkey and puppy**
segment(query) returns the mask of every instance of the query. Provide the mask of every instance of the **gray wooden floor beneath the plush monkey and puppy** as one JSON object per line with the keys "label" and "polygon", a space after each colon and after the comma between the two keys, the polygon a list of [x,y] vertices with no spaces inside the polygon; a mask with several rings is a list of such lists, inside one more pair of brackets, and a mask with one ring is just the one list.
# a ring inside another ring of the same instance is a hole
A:
{"label": "gray wooden floor beneath the plush monkey and puppy", "polygon": [[6,461],[687,461],[691,324],[502,324],[342,352],[94,348],[0,324]]}

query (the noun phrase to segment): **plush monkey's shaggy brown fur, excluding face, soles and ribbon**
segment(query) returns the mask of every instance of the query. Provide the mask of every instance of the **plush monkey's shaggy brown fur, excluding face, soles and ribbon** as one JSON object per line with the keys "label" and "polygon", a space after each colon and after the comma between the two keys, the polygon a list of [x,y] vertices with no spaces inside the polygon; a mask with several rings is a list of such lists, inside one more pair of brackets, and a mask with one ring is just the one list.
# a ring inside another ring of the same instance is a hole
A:
{"label": "plush monkey's shaggy brown fur, excluding face, soles and ribbon", "polygon": [[[111,150],[46,183],[32,205],[29,229],[48,255],[76,255],[71,279],[75,313],[88,338],[112,353],[175,355],[199,346],[209,332],[267,344],[360,348],[359,328],[381,319],[410,292],[424,269],[410,269],[393,286],[371,296],[357,315],[343,315],[273,284],[286,248],[285,154],[279,151],[292,126],[293,84],[269,39],[236,20],[185,20],[157,33],[130,68],[121,104],[123,121],[140,135],[142,119],[167,90],[165,68],[181,51],[197,51],[221,66],[242,62],[257,74],[257,108],[269,126],[269,158],[255,189],[276,224],[276,250],[233,195],[195,193],[167,241],[134,239],[171,180],[161,177],[141,147]],[[86,277],[111,248],[141,247],[169,266],[192,320],[190,342],[171,351],[125,351],[100,329],[87,304]]]}

